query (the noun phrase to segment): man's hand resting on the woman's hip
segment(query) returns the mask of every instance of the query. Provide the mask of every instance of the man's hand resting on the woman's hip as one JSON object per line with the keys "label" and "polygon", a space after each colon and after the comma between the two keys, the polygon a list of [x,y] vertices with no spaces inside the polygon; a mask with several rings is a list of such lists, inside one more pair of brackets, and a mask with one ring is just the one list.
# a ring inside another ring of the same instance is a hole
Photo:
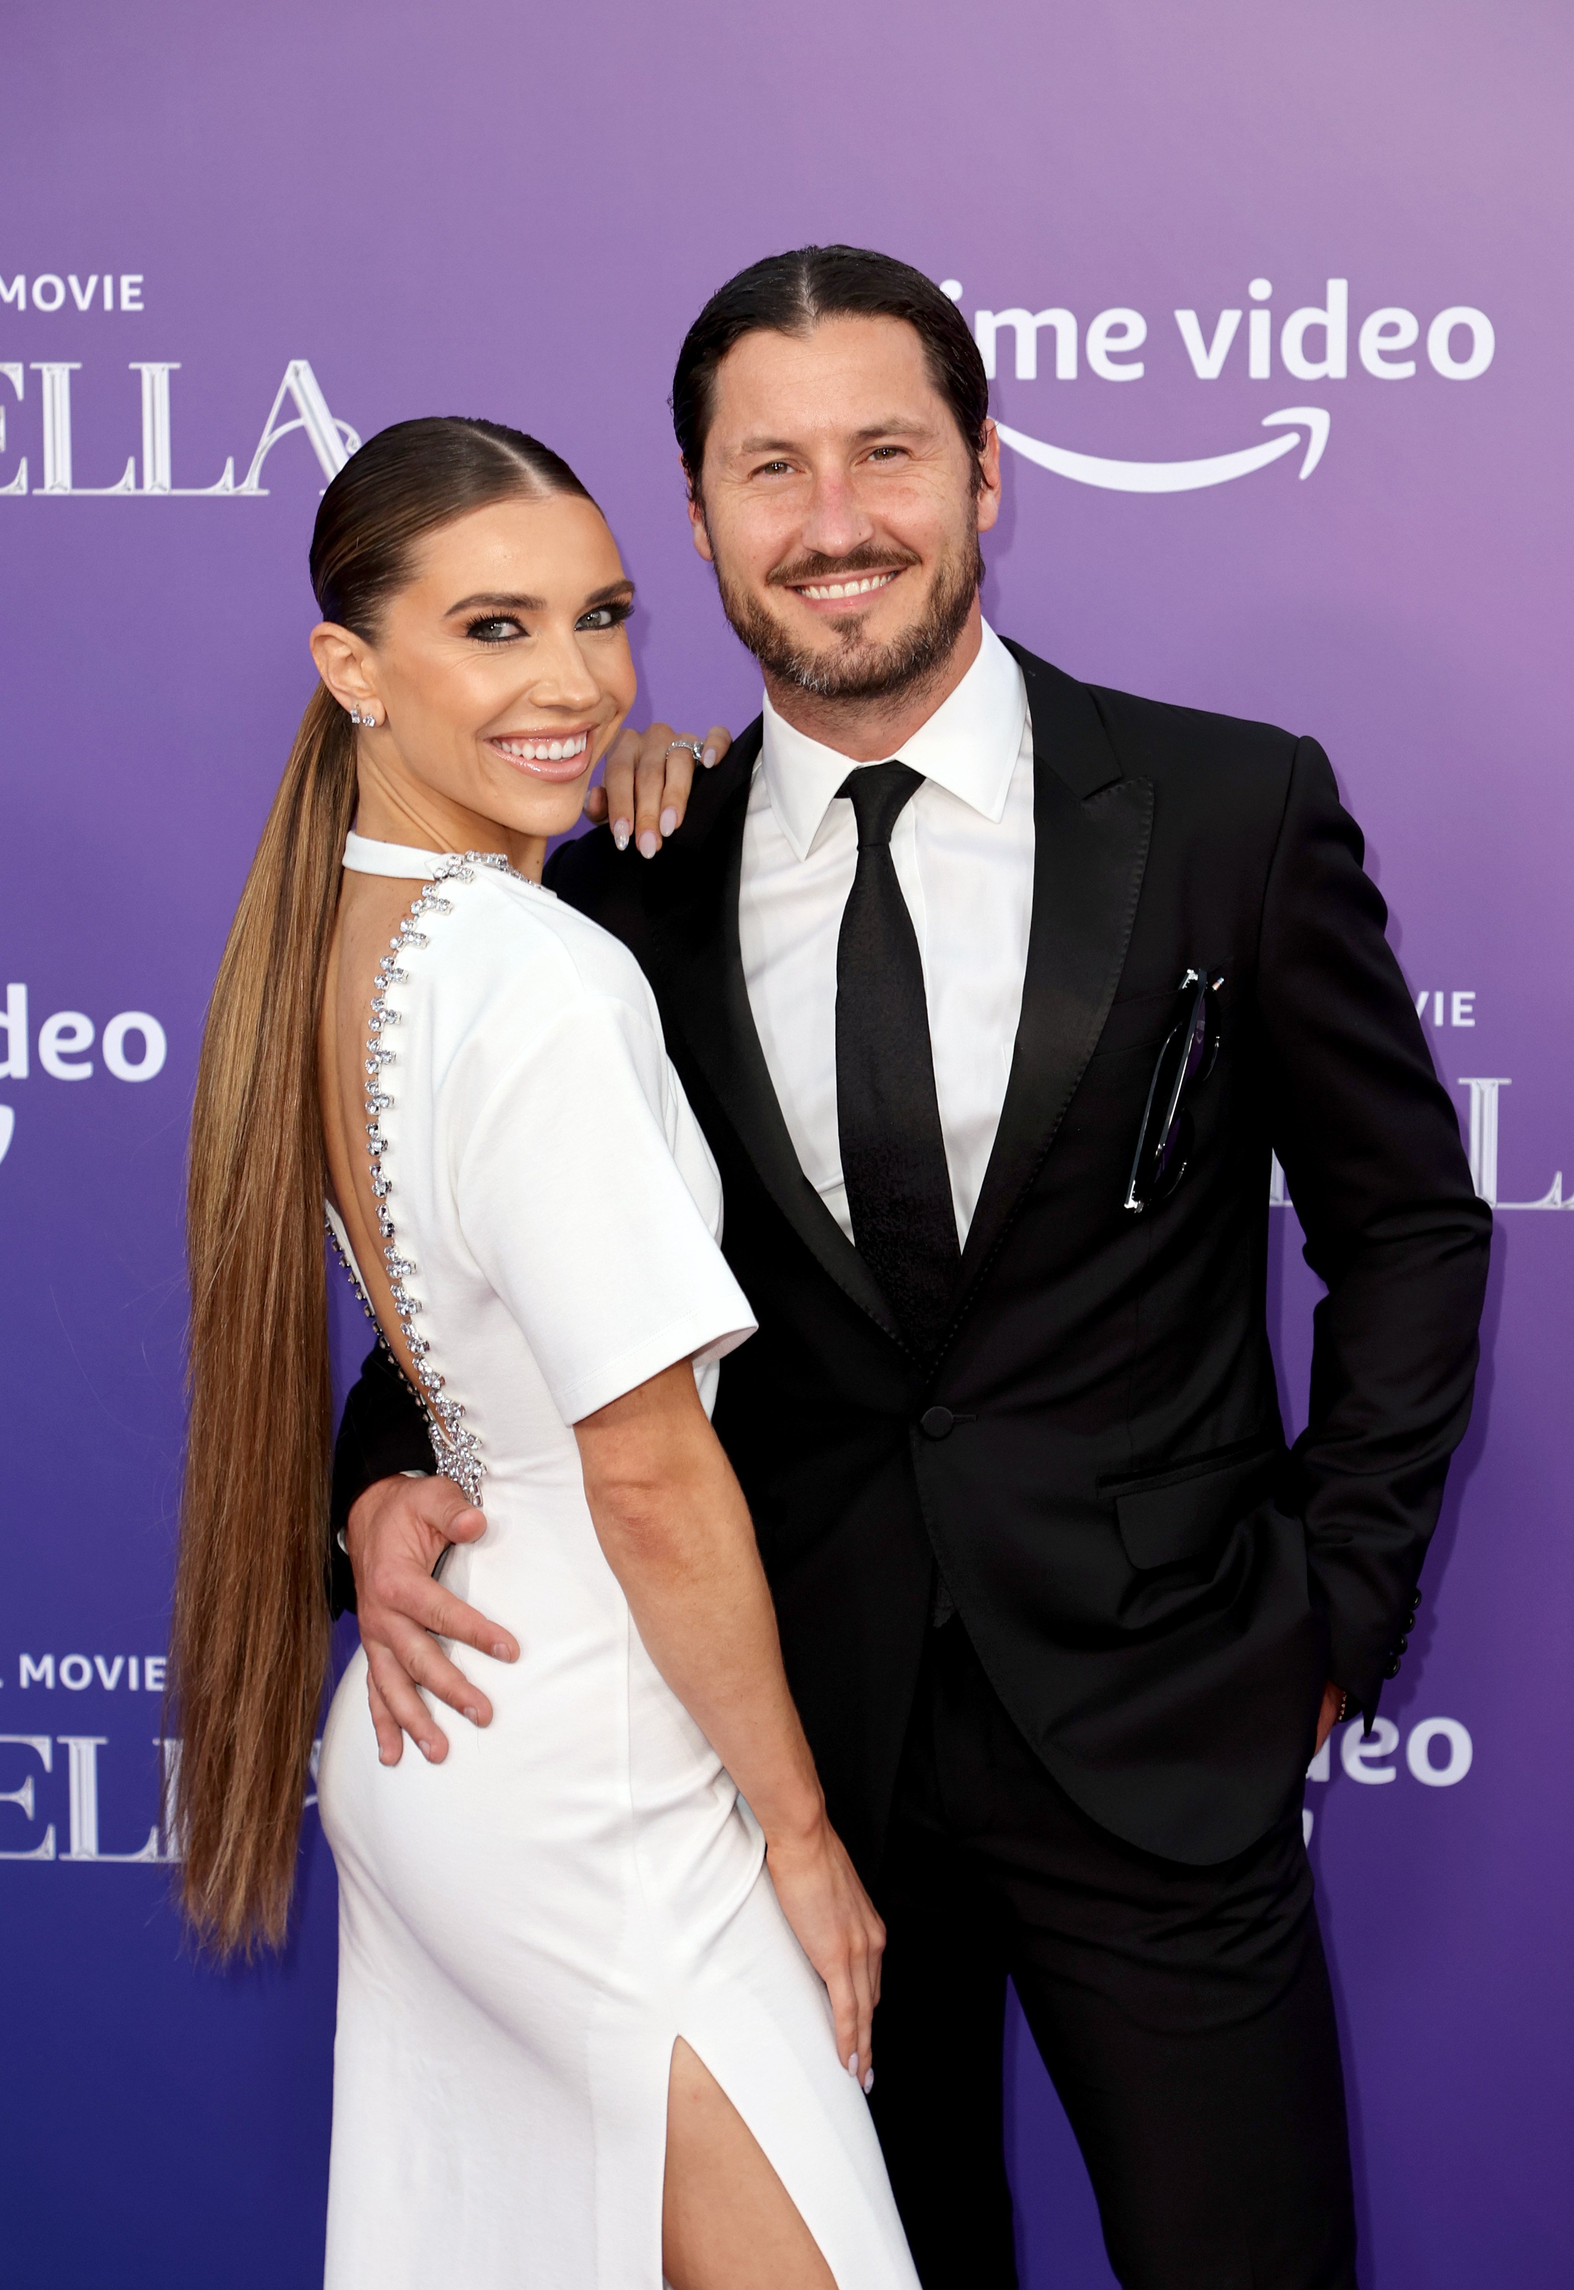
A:
{"label": "man's hand resting on the woman's hip", "polygon": [[451,1479],[378,1479],[351,1507],[344,1543],[355,1569],[367,1699],[385,1766],[399,1763],[406,1734],[433,1766],[449,1754],[449,1738],[417,1685],[472,1724],[493,1720],[493,1704],[447,1658],[438,1637],[458,1640],[499,1663],[520,1656],[502,1624],[433,1580],[449,1543],[474,1543],[481,1534],[486,1518]]}

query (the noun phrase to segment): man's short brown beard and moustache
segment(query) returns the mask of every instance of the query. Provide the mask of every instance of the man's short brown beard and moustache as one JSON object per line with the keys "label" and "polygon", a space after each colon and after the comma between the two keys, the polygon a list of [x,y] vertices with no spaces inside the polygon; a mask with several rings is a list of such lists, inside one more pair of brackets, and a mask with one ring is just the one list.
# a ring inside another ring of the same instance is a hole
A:
{"label": "man's short brown beard and moustache", "polygon": [[[802,643],[793,643],[758,598],[726,577],[717,559],[715,577],[722,611],[731,621],[738,641],[749,646],[761,669],[784,685],[797,685],[800,692],[813,692],[825,701],[896,698],[921,689],[930,678],[939,676],[958,637],[967,627],[967,616],[974,609],[974,598],[983,579],[978,536],[971,534],[969,540],[971,545],[962,545],[955,554],[942,559],[921,618],[889,643],[864,641],[861,614],[834,625],[834,643],[825,650],[809,650]],[[910,559],[910,563],[916,561]],[[884,554],[855,550],[852,556],[802,559],[788,575],[772,575],[772,584],[797,586],[889,570],[889,550]]]}

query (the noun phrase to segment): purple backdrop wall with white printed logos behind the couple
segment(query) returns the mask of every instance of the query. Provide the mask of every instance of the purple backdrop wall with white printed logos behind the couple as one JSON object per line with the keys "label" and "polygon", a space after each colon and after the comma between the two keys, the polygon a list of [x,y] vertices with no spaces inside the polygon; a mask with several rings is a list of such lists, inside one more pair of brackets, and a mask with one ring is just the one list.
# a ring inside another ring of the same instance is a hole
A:
{"label": "purple backdrop wall with white printed logos behind the couple", "polygon": [[[687,545],[671,357],[733,268],[850,238],[992,337],[1022,440],[994,623],[1324,740],[1505,1209],[1418,1640],[1382,1740],[1336,1743],[1308,1809],[1368,2285],[1567,2283],[1567,11],[11,0],[5,69],[7,2281],[321,2269],[314,1816],[298,1940],[252,1974],[192,1965],[144,1862],[192,1065],[309,689],[339,426],[538,431],[639,579],[642,705],[740,726],[756,680]],[[300,426],[254,469],[282,389]],[[1299,1420],[1313,1282],[1288,1209],[1274,1230]],[[1026,2283],[1104,2285],[1020,2027],[1008,2072]]]}

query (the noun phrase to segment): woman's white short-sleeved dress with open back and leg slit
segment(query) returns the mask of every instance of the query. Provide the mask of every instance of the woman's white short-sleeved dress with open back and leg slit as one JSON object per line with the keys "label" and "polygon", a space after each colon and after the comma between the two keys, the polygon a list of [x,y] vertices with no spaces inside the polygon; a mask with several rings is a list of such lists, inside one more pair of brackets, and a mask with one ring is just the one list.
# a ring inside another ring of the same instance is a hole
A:
{"label": "woman's white short-sleeved dress with open back and leg slit", "polygon": [[[729,2093],[839,2290],[916,2290],[868,2105],[758,1825],[603,1557],[570,1424],[754,1321],[632,955],[502,861],[424,877],[371,1019],[399,1312],[486,1507],[444,1580],[516,1665],[449,1756],[378,1763],[364,1656],[328,1718],[339,1866],[328,2290],[660,2290],[671,2047]],[[348,1253],[344,1232],[339,1243]]]}

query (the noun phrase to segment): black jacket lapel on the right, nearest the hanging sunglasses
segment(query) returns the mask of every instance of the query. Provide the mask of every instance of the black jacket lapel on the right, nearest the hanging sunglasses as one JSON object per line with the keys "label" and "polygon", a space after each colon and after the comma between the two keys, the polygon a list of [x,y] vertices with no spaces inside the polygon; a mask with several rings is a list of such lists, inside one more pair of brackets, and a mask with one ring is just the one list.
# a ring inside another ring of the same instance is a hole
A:
{"label": "black jacket lapel on the right, nearest the hanging sunglasses", "polygon": [[1033,717],[1033,916],[1022,1017],[978,1207],[967,1308],[1049,1152],[1120,985],[1152,831],[1152,783],[1125,779],[1086,685],[1010,653]]}

